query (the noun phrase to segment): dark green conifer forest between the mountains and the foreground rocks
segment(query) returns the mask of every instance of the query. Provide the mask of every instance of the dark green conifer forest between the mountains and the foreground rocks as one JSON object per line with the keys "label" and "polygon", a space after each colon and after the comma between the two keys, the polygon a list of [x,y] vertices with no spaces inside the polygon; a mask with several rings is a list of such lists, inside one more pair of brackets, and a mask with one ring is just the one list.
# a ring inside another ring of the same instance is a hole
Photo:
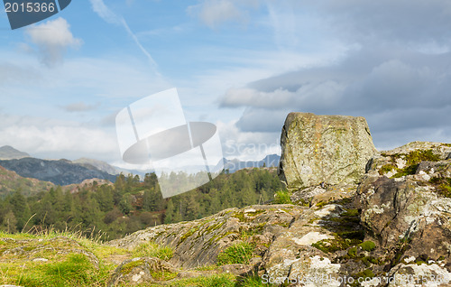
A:
{"label": "dark green conifer forest between the mountains and the foreground rocks", "polygon": [[94,182],[72,192],[57,187],[25,197],[26,190],[15,190],[0,199],[0,229],[14,233],[54,228],[110,240],[145,227],[263,203],[281,189],[275,169],[253,169],[222,173],[196,190],[162,199],[155,174],[143,181],[121,174],[114,184]]}

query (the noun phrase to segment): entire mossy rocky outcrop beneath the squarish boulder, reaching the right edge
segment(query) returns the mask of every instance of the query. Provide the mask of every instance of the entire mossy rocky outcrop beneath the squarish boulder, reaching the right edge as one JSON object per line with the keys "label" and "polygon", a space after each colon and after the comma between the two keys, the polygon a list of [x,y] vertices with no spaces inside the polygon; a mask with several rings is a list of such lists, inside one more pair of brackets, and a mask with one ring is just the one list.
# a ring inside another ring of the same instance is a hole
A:
{"label": "entire mossy rocky outcrop beneath the squarish boulder, reaching the right edge", "polygon": [[151,227],[111,245],[133,248],[148,240],[170,245],[175,251],[170,264],[185,270],[222,264],[228,248],[248,243],[254,248],[244,264],[249,268],[235,273],[258,273],[262,282],[275,285],[344,286],[343,279],[351,278],[349,286],[422,286],[415,280],[447,286],[449,153],[451,144],[407,144],[376,154],[358,185],[322,183],[292,194],[294,205],[227,209]]}

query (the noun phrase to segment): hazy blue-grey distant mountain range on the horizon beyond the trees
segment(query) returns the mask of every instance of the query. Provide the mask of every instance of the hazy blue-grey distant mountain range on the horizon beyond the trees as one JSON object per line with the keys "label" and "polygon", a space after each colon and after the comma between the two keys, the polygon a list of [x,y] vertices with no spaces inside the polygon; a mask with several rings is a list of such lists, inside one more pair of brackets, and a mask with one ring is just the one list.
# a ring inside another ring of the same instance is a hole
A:
{"label": "hazy blue-grey distant mountain range on the horizon beyond the trees", "polygon": [[[262,161],[247,161],[224,159],[224,168],[235,172],[244,168],[274,167],[278,166],[281,157],[277,154],[267,155]],[[41,160],[32,158],[30,154],[23,153],[14,147],[5,145],[0,147],[0,166],[8,171],[15,171],[23,178],[32,178],[40,181],[50,181],[56,185],[78,184],[85,180],[99,179],[115,181],[116,175],[123,172],[138,174],[143,178],[145,171],[124,170],[110,165],[107,162],[88,158],[76,161],[69,160]]]}

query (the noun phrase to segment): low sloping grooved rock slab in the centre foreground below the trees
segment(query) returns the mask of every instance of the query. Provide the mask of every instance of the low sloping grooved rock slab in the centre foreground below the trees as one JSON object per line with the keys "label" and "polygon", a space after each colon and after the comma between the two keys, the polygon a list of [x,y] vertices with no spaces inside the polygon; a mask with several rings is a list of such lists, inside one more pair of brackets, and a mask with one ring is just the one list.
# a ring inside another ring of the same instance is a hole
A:
{"label": "low sloping grooved rock slab in the centre foreground below the trees", "polygon": [[184,268],[216,264],[221,250],[244,241],[255,245],[255,257],[262,257],[273,237],[286,232],[305,209],[292,205],[230,208],[208,218],[150,227],[109,245],[127,249],[149,241],[169,245],[174,249],[170,263]]}

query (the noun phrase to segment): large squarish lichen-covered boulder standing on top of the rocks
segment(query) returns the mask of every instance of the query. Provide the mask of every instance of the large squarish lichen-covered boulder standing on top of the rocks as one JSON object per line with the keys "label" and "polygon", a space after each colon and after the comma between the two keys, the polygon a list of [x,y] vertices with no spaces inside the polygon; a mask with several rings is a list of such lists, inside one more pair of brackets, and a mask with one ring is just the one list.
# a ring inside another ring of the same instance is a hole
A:
{"label": "large squarish lichen-covered boulder standing on top of the rocks", "polygon": [[358,182],[377,153],[362,116],[290,113],[281,133],[279,175],[289,190]]}

